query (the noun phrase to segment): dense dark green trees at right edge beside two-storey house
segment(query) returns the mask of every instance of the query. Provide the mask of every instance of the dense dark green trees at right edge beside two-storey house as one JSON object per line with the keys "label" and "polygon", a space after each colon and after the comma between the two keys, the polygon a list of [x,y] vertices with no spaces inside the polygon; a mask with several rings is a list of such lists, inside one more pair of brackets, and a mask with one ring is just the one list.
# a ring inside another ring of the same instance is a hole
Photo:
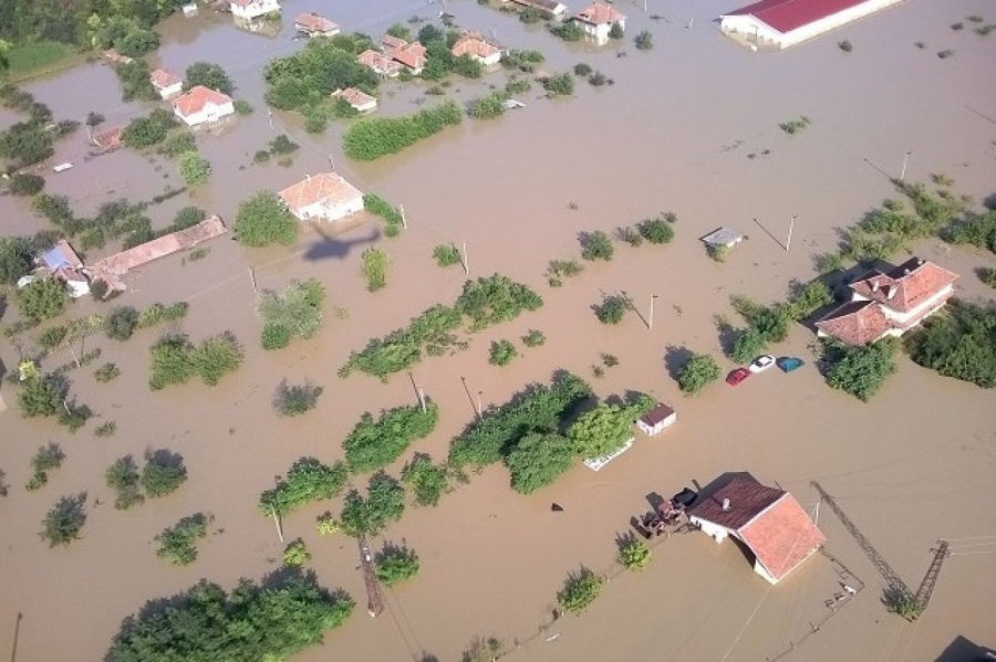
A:
{"label": "dense dark green trees at right edge beside two-storey house", "polygon": [[996,388],[996,307],[951,302],[907,343],[910,358],[945,377]]}

